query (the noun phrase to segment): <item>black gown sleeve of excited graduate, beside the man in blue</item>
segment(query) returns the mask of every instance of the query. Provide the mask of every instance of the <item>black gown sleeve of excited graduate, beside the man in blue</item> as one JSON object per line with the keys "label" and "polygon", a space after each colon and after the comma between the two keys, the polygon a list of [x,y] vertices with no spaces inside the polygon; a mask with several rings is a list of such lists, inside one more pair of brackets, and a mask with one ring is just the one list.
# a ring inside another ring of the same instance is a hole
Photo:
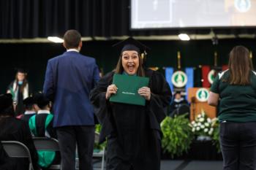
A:
{"label": "black gown sleeve of excited graduate, beside the man in blue", "polygon": [[110,103],[106,100],[105,95],[108,85],[112,84],[113,72],[106,74],[97,83],[96,87],[91,90],[90,101],[94,105],[94,113],[99,123],[102,125],[102,131],[99,135],[99,143],[105,141],[105,137],[113,131],[111,123]]}

